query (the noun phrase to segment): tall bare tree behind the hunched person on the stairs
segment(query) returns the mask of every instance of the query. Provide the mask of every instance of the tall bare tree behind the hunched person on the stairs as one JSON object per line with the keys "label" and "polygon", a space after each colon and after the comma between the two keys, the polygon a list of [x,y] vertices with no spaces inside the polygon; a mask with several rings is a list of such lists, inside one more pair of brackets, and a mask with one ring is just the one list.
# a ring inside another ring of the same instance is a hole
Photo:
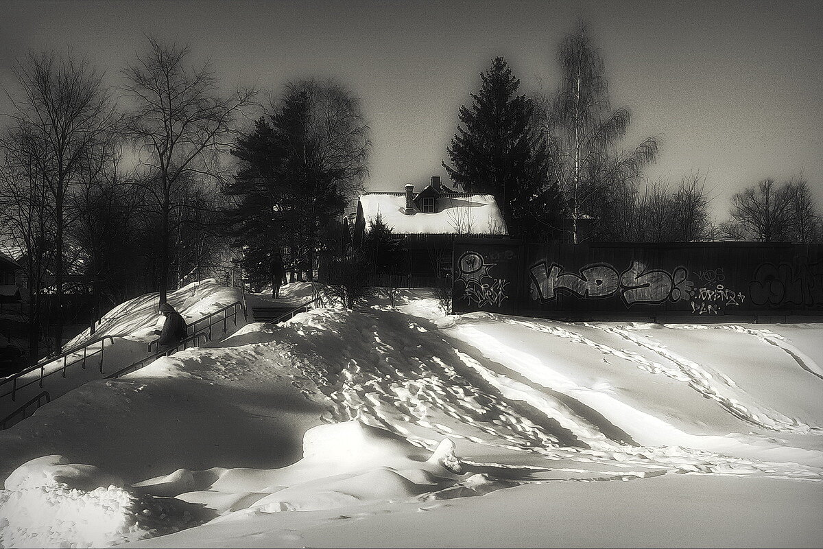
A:
{"label": "tall bare tree behind the hunched person on the stairs", "polygon": [[151,188],[160,208],[160,303],[169,287],[172,196],[185,174],[216,176],[214,166],[223,147],[238,134],[235,119],[253,105],[255,92],[235,91],[221,97],[209,63],[188,64],[188,47],[150,47],[123,71],[124,90],[133,101],[128,133],[143,147],[144,165],[157,188]]}

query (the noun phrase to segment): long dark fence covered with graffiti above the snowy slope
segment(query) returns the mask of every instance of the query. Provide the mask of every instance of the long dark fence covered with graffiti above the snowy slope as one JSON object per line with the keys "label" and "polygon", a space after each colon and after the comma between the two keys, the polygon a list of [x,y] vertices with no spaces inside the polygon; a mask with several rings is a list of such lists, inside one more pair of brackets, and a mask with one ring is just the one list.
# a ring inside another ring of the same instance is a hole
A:
{"label": "long dark fence covered with graffiti above the snowy slope", "polygon": [[823,246],[458,240],[453,310],[530,316],[821,314]]}

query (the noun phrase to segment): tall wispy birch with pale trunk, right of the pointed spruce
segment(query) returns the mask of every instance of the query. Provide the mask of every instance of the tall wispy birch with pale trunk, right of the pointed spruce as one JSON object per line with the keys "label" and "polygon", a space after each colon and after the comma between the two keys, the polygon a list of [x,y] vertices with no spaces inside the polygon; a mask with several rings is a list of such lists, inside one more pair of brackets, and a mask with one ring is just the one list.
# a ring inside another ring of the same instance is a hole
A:
{"label": "tall wispy birch with pale trunk, right of the pointed spruce", "polygon": [[537,103],[538,119],[549,144],[551,180],[560,187],[565,211],[572,221],[572,240],[579,242],[579,221],[598,220],[613,211],[611,198],[657,156],[654,137],[634,151],[616,151],[616,141],[630,123],[628,109],[611,110],[602,58],[585,24],[560,44],[560,90],[553,100]]}

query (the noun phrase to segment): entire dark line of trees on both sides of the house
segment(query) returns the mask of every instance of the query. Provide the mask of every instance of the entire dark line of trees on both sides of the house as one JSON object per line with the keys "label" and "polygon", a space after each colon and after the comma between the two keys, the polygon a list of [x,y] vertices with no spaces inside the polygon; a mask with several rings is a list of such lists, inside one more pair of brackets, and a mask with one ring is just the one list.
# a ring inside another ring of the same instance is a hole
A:
{"label": "entire dark line of trees on both sides of the house", "polygon": [[[527,94],[493,59],[446,151],[453,183],[494,195],[509,235],[821,240],[803,179],[752,182],[723,223],[700,174],[647,181],[658,142],[622,146],[630,111],[611,106],[585,25],[560,41],[556,62],[555,86]],[[393,272],[402,254],[391,227],[377,221],[352,249],[340,222],[363,190],[371,143],[360,101],[339,82],[291,81],[261,104],[251,89],[222,91],[188,48],[151,39],[119,69],[112,87],[72,54],[30,53],[13,66],[0,244],[25,270],[30,360],[60,351],[78,294],[100,320],[111,305],[148,291],[163,303],[202,277],[256,289],[311,279],[322,257],[348,281],[351,306],[363,272]]]}

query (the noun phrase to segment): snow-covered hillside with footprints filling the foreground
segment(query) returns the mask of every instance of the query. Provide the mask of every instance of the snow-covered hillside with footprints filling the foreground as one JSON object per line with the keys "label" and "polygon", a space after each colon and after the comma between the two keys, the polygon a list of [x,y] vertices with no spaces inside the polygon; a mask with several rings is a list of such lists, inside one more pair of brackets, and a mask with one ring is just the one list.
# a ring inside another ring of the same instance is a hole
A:
{"label": "snow-covered hillside with footprints filling the foreground", "polygon": [[251,323],[0,432],[2,546],[820,547],[821,335]]}

